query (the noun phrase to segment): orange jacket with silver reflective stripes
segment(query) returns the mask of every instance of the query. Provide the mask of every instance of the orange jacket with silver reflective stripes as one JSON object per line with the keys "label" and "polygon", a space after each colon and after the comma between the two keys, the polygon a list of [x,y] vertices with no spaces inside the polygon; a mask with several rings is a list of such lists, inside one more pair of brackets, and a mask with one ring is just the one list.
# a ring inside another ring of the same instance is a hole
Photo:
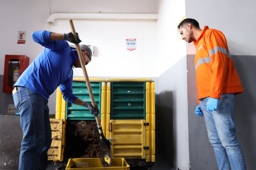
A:
{"label": "orange jacket with silver reflective stripes", "polygon": [[204,97],[221,99],[221,94],[243,92],[221,31],[205,26],[194,45],[197,49],[195,72],[199,104],[199,99]]}

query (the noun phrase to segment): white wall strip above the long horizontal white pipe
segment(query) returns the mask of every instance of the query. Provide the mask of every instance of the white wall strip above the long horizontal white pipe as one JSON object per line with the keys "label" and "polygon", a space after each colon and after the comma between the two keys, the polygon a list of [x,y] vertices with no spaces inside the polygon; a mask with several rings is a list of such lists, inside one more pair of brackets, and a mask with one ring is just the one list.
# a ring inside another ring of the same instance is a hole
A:
{"label": "white wall strip above the long horizontal white pipe", "polygon": [[159,0],[51,0],[53,12],[157,13]]}

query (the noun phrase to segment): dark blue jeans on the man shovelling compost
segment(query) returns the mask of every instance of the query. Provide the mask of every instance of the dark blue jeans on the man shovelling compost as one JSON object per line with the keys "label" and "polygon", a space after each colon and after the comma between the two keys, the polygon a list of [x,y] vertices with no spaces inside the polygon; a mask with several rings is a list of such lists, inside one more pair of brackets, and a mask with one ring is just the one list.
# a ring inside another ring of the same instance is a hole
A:
{"label": "dark blue jeans on the man shovelling compost", "polygon": [[34,91],[19,86],[13,99],[20,111],[23,130],[19,170],[45,170],[48,165],[47,151],[52,143],[48,101]]}

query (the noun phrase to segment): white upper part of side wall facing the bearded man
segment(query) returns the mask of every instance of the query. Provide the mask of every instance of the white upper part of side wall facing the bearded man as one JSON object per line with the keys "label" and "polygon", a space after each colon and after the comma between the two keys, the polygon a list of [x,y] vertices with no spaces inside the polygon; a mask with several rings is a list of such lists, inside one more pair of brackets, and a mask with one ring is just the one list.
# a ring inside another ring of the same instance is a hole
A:
{"label": "white upper part of side wall facing the bearded man", "polygon": [[178,42],[180,35],[177,32],[177,25],[184,15],[184,0],[160,0],[157,21],[159,75],[186,55],[186,42]]}

